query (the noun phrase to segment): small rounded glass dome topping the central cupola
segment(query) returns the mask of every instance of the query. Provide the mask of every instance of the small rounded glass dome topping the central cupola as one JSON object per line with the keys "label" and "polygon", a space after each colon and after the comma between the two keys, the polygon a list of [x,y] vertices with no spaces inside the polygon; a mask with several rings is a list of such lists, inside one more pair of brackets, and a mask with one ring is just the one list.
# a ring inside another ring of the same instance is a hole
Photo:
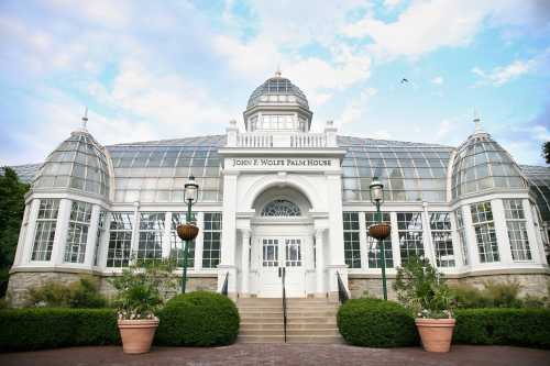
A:
{"label": "small rounded glass dome topping the central cupola", "polygon": [[309,110],[304,92],[287,78],[277,75],[257,87],[249,98],[248,109],[260,103],[298,103]]}

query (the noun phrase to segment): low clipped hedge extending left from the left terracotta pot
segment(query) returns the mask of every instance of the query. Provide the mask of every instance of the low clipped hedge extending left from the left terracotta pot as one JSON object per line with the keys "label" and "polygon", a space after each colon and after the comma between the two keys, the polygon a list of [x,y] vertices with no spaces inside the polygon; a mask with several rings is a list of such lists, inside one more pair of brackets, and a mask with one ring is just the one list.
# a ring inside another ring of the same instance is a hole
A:
{"label": "low clipped hedge extending left from the left terracotta pot", "polygon": [[9,309],[0,324],[0,352],[120,344],[114,309]]}

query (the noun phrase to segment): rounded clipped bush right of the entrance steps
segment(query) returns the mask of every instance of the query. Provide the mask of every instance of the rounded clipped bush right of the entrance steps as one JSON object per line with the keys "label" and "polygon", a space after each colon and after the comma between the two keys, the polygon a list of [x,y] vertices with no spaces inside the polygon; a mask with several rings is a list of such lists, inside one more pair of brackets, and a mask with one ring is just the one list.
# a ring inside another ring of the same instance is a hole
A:
{"label": "rounded clipped bush right of the entrance steps", "polygon": [[399,303],[354,299],[338,311],[338,328],[348,343],[367,347],[399,347],[418,343],[415,320]]}

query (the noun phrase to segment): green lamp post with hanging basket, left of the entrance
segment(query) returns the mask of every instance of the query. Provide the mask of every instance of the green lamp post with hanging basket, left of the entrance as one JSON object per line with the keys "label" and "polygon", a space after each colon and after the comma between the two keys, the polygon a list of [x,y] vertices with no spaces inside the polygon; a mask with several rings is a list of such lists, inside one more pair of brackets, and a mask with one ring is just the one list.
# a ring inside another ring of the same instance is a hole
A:
{"label": "green lamp post with hanging basket, left of the entrance", "polygon": [[177,235],[182,240],[182,249],[184,252],[183,275],[182,275],[182,293],[185,293],[187,282],[187,259],[189,256],[189,245],[197,237],[199,229],[193,220],[191,207],[199,197],[199,185],[195,182],[195,177],[190,176],[189,180],[184,186],[184,199],[187,202],[186,223],[177,225]]}

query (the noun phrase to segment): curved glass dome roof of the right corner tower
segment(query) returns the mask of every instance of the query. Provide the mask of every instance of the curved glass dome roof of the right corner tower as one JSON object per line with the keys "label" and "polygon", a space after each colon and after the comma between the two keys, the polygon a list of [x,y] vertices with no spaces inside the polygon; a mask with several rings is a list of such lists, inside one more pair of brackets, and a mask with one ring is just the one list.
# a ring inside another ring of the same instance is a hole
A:
{"label": "curved glass dome roof of the right corner tower", "polygon": [[517,164],[487,133],[471,135],[459,147],[452,166],[452,198],[487,189],[527,188]]}

